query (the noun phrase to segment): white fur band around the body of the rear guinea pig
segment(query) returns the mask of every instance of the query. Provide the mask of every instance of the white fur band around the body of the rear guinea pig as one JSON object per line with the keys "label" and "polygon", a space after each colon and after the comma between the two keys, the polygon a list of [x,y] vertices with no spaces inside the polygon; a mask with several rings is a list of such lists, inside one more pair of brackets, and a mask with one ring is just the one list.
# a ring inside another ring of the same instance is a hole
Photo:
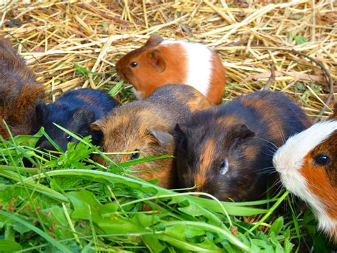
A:
{"label": "white fur band around the body of the rear guinea pig", "polygon": [[162,41],[161,45],[179,43],[186,51],[188,59],[188,73],[186,83],[193,86],[203,95],[207,95],[210,87],[210,78],[212,75],[212,54],[210,48],[198,43],[188,43],[183,41]]}

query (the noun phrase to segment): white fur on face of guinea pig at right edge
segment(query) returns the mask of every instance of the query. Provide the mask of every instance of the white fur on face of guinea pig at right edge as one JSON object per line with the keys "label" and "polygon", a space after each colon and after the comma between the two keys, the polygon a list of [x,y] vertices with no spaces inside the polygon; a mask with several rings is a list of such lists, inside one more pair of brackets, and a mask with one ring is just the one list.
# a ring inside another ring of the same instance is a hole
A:
{"label": "white fur on face of guinea pig at right edge", "polygon": [[326,140],[334,130],[337,130],[337,120],[316,123],[311,128],[289,138],[277,150],[273,158],[274,167],[279,172],[284,187],[311,205],[319,220],[319,228],[326,232],[336,229],[337,220],[331,220],[328,217],[323,203],[319,197],[310,192],[309,182],[306,182],[306,179],[302,177],[300,170],[305,156],[319,143]]}

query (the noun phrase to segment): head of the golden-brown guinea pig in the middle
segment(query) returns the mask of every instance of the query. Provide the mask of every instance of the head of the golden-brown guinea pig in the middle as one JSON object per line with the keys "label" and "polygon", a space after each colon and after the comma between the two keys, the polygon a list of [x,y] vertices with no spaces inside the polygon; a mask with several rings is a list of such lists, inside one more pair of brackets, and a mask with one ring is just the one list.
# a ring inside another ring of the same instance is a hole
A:
{"label": "head of the golden-brown guinea pig in the middle", "polygon": [[[162,113],[151,108],[124,105],[107,118],[97,120],[92,124],[92,129],[102,131],[102,150],[105,153],[127,153],[108,155],[115,163],[173,155],[174,140],[170,124],[162,117]],[[109,165],[102,157],[97,156],[95,160],[102,165]],[[133,175],[143,179],[158,178],[162,187],[169,188],[173,184],[175,176],[172,158],[141,162],[130,167],[134,170]]]}

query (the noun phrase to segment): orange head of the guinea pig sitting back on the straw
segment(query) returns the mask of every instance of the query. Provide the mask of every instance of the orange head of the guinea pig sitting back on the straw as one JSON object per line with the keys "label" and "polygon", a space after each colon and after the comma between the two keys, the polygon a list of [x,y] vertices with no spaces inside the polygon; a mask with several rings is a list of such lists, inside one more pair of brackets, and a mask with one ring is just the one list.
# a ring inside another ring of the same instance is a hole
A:
{"label": "orange head of the guinea pig sitting back on the straw", "polygon": [[146,98],[157,88],[159,80],[156,79],[161,78],[158,74],[166,70],[164,53],[156,47],[161,41],[164,41],[161,36],[151,35],[144,46],[127,53],[116,63],[119,77],[132,83],[140,98]]}

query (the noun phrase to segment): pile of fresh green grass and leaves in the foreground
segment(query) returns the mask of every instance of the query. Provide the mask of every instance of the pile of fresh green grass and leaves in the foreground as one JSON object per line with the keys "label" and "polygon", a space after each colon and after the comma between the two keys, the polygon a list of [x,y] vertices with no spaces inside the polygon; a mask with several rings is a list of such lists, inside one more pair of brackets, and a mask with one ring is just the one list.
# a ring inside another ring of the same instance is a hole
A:
{"label": "pile of fresh green grass and leaves in the foreground", "polygon": [[[329,250],[311,211],[299,214],[300,204],[293,204],[289,192],[241,203],[194,197],[128,175],[132,163],[97,165],[90,154],[100,151],[88,137],[73,135],[80,143],[69,143],[66,153],[41,152],[35,145],[42,135],[43,129],[1,140],[1,250],[303,252],[313,245],[316,252]],[[132,162],[151,159],[158,158]],[[33,167],[25,167],[28,163]],[[244,221],[252,215],[254,222]]]}

